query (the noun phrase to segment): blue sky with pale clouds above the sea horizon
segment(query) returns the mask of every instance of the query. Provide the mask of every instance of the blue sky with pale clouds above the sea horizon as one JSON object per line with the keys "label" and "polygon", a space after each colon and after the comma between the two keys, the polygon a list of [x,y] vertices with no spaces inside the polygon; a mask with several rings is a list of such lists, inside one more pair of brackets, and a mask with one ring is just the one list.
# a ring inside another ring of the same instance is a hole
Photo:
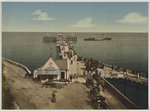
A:
{"label": "blue sky with pale clouds above the sea horizon", "polygon": [[147,2],[2,2],[3,32],[148,32]]}

